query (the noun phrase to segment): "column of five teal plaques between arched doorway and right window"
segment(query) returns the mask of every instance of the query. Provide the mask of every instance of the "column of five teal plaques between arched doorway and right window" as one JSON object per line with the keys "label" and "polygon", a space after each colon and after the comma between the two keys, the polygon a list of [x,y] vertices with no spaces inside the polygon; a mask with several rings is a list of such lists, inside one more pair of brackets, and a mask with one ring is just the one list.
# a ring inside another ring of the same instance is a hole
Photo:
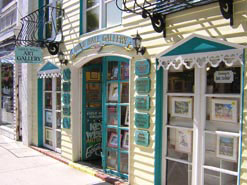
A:
{"label": "column of five teal plaques between arched doorway and right window", "polygon": [[147,147],[150,142],[150,115],[147,113],[150,109],[150,61],[139,60],[135,62],[135,74],[138,78],[135,81],[135,89],[137,96],[135,97],[135,143],[140,146]]}

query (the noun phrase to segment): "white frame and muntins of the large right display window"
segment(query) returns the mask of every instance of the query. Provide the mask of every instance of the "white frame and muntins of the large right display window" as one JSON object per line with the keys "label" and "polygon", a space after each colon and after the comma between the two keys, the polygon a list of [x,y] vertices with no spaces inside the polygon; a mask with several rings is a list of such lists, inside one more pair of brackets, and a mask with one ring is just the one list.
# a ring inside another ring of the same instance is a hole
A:
{"label": "white frame and muntins of the large right display window", "polygon": [[[242,69],[242,65],[240,65],[240,69]],[[171,160],[175,162],[180,162],[188,165],[192,165],[192,185],[203,185],[204,184],[204,169],[213,170],[215,172],[221,172],[228,175],[238,176],[239,171],[234,172],[230,170],[226,170],[223,168],[216,168],[212,166],[204,165],[205,160],[205,133],[210,134],[220,134],[221,132],[213,132],[207,131],[206,128],[206,104],[207,97],[224,97],[224,98],[238,98],[240,105],[239,106],[239,118],[242,112],[242,101],[241,101],[241,92],[239,94],[207,94],[206,93],[206,85],[207,85],[207,72],[206,66],[203,68],[199,68],[198,66],[194,66],[194,93],[168,93],[168,70],[164,70],[163,72],[163,146],[162,146],[162,184],[166,184],[167,180],[167,168],[166,161]],[[241,70],[240,70],[241,71]],[[240,72],[240,79],[242,82],[242,71]],[[240,86],[242,83],[240,82]],[[240,90],[242,87],[240,87]],[[186,128],[181,126],[173,126],[168,125],[168,97],[171,96],[180,96],[180,97],[194,97],[193,104],[193,128]],[[240,119],[239,119],[240,120]],[[235,125],[236,126],[236,125]],[[175,159],[167,156],[167,129],[168,128],[179,128],[179,129],[187,129],[193,131],[193,144],[192,144],[192,153],[193,158],[192,162],[183,161],[179,159]],[[238,132],[224,132],[229,136],[238,137],[238,170],[240,162],[240,121],[239,121],[239,129]],[[223,184],[221,184],[223,185]]]}

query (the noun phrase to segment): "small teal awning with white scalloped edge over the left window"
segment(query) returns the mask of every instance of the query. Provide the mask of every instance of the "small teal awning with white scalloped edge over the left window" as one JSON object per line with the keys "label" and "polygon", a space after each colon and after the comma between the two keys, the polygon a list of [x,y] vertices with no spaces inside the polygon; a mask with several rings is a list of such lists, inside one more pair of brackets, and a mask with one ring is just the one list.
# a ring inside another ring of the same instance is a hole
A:
{"label": "small teal awning with white scalloped edge over the left window", "polygon": [[46,62],[38,72],[38,78],[53,78],[61,76],[61,69],[51,62]]}

